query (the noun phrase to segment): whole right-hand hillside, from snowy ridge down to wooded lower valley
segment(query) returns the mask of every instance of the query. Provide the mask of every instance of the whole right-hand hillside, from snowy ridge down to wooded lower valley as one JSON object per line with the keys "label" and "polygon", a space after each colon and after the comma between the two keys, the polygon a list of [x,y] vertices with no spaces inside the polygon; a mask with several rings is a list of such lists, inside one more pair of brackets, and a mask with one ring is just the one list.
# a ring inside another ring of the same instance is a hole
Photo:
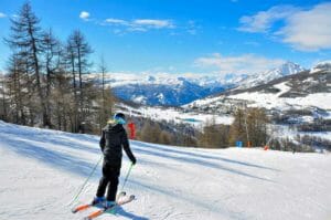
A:
{"label": "whole right-hand hillside, from snowy ridge down to wooded lower valley", "polygon": [[[231,90],[183,106],[188,112],[232,114],[237,108],[264,108],[270,135],[313,149],[329,148],[331,140],[331,70],[319,64],[310,71],[284,76],[245,90]],[[308,138],[302,142],[299,136]]]}

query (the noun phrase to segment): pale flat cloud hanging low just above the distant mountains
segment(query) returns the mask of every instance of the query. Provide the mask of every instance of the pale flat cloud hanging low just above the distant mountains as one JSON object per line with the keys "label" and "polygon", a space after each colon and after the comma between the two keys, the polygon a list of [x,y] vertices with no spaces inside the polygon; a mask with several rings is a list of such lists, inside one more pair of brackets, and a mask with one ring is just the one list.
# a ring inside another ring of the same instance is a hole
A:
{"label": "pale flat cloud hanging low just above the distant mountains", "polygon": [[254,74],[274,69],[285,63],[281,59],[267,59],[255,54],[239,56],[223,56],[220,53],[211,56],[199,57],[195,65],[200,67],[213,67],[221,74]]}

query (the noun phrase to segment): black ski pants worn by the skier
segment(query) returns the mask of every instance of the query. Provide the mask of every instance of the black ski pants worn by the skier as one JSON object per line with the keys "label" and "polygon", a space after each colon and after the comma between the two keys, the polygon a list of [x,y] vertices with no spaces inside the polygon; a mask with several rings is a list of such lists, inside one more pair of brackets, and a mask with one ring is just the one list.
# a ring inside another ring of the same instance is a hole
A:
{"label": "black ski pants worn by the skier", "polygon": [[118,186],[118,177],[120,172],[120,166],[111,166],[107,163],[103,165],[103,177],[99,181],[99,187],[97,190],[97,197],[104,197],[107,189],[107,201],[115,201],[117,186]]}

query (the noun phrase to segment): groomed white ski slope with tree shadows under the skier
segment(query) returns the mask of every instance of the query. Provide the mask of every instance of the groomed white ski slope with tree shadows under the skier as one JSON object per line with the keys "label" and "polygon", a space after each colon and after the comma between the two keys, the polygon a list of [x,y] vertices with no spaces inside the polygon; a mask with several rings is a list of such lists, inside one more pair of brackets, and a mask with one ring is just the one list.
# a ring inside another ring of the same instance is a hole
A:
{"label": "groomed white ski slope with tree shadows under the skier", "polygon": [[[98,219],[331,219],[331,155],[131,147],[126,191],[137,200]],[[82,219],[89,211],[73,214],[68,203],[99,157],[97,136],[0,122],[0,219]],[[99,176],[100,167],[75,203],[93,198]]]}

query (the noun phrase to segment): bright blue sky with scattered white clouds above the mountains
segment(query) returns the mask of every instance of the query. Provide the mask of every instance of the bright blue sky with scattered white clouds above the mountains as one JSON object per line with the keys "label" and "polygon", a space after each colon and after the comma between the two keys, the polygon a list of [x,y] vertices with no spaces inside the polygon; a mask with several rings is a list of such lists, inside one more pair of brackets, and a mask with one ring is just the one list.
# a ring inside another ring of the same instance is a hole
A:
{"label": "bright blue sky with scattered white clouds above the mountains", "polygon": [[[0,38],[23,0],[0,0]],[[62,40],[82,30],[109,72],[254,73],[331,60],[331,1],[31,0]],[[9,50],[0,43],[0,70]]]}

